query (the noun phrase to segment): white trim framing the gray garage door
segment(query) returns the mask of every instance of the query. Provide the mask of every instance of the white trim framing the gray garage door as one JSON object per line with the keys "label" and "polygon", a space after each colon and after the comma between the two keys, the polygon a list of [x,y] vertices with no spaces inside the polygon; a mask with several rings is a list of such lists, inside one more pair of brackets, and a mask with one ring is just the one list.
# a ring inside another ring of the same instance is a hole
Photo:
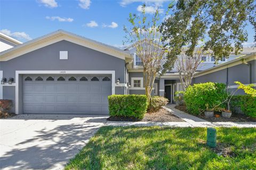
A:
{"label": "white trim framing the gray garage door", "polygon": [[112,95],[115,94],[115,71],[114,70],[107,70],[107,71],[100,71],[100,70],[54,70],[54,71],[49,71],[49,70],[23,70],[23,71],[15,71],[15,113],[19,113],[19,83],[22,83],[22,79],[19,80],[19,75],[20,74],[111,74],[112,75]]}

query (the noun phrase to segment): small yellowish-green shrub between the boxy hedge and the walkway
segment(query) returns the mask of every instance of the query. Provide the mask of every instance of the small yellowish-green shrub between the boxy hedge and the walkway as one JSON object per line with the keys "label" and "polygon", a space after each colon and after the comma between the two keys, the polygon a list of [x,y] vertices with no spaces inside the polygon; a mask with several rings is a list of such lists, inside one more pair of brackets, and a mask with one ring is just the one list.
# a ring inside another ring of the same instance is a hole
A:
{"label": "small yellowish-green shrub between the boxy hedge and the walkway", "polygon": [[148,106],[148,112],[157,112],[167,103],[168,103],[168,99],[162,96],[151,96],[149,106]]}

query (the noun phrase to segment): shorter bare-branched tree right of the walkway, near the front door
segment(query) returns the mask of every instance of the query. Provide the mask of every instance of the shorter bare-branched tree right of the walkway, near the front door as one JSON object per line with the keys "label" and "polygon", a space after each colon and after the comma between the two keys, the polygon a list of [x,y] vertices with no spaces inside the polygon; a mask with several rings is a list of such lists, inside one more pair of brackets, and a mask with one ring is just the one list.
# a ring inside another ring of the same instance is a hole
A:
{"label": "shorter bare-branched tree right of the walkway, near the front door", "polygon": [[191,84],[194,74],[202,63],[202,48],[196,48],[192,56],[188,56],[182,52],[175,61],[175,69],[179,72],[180,82],[185,90]]}

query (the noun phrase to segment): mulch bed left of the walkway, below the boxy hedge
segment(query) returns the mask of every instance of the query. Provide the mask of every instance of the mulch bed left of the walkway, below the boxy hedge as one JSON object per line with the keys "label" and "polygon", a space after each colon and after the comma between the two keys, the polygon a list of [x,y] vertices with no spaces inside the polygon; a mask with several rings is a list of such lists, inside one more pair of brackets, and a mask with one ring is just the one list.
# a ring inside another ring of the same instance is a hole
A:
{"label": "mulch bed left of the walkway, below the boxy hedge", "polygon": [[142,120],[138,120],[137,118],[133,117],[110,116],[107,118],[107,121],[184,122],[181,118],[173,115],[169,111],[166,111],[164,108],[160,109],[158,112],[146,113]]}

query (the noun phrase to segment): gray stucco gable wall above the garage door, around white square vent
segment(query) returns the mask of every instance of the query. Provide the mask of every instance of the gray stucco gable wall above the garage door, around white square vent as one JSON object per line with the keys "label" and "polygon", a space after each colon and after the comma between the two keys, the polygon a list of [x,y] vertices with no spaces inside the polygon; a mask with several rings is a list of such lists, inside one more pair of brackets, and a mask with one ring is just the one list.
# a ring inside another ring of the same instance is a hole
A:
{"label": "gray stucco gable wall above the garage door, around white square vent", "polygon": [[[68,60],[60,60],[60,51],[68,51]],[[120,83],[125,76],[124,60],[66,40],[0,62],[0,68],[6,78],[15,78],[15,70],[115,70]]]}

